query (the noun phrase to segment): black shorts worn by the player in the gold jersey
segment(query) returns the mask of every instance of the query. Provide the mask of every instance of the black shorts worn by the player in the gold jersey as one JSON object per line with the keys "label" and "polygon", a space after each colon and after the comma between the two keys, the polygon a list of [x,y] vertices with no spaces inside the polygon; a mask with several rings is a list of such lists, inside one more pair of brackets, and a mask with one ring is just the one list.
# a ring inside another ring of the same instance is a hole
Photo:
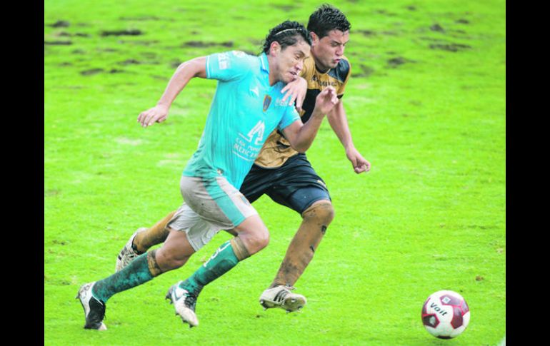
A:
{"label": "black shorts worn by the player in the gold jersey", "polygon": [[300,214],[317,200],[331,200],[324,181],[302,153],[292,156],[279,168],[252,165],[241,185],[241,193],[250,203],[265,193],[276,203]]}

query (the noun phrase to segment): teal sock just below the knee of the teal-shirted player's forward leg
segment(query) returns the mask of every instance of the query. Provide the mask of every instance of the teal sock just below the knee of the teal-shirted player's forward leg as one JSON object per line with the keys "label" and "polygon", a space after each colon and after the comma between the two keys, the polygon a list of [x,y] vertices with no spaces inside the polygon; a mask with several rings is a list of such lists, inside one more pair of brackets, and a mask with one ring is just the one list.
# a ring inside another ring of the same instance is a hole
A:
{"label": "teal sock just below the knee of the teal-shirted player's forward leg", "polygon": [[231,247],[231,241],[227,240],[218,250],[216,250],[214,255],[204,263],[204,265],[201,265],[201,267],[187,280],[181,283],[179,287],[198,296],[205,285],[227,273],[231,268],[237,265],[237,263],[239,263],[239,259],[236,257]]}

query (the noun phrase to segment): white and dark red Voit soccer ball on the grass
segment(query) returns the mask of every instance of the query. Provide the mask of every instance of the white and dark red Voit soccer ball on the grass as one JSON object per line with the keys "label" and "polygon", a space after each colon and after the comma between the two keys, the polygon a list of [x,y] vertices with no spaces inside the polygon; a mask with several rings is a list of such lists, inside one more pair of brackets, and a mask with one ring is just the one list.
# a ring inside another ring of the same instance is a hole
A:
{"label": "white and dark red Voit soccer ball on the grass", "polygon": [[430,295],[422,307],[422,323],[434,337],[451,339],[464,332],[470,322],[466,300],[456,292],[442,290]]}

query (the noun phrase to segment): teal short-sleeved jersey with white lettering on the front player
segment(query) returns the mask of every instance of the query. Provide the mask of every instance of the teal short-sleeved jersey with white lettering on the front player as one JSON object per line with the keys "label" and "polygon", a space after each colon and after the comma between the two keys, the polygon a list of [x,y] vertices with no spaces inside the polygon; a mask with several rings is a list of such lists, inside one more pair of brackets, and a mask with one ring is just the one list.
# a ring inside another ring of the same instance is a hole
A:
{"label": "teal short-sleeved jersey with white lettering on the front player", "polygon": [[269,86],[266,54],[212,54],[206,57],[206,78],[218,80],[216,93],[199,148],[183,174],[222,175],[239,189],[269,133],[275,128],[282,131],[299,120],[299,114],[282,101],[284,83]]}

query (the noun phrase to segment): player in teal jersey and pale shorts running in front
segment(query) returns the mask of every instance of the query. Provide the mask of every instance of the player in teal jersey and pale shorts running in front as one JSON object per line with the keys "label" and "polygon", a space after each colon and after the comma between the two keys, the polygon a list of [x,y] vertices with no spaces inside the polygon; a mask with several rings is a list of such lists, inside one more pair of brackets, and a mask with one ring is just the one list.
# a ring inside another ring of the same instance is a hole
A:
{"label": "player in teal jersey and pale shorts running in front", "polygon": [[269,231],[239,192],[241,183],[269,133],[278,129],[296,151],[306,151],[338,98],[334,88],[326,88],[317,96],[309,121],[302,123],[282,90],[299,75],[309,56],[311,36],[301,24],[285,21],[271,29],[266,45],[260,56],[232,51],[182,63],[157,106],[140,114],[139,122],[150,126],[159,116],[166,117],[191,78],[218,80],[199,148],[181,176],[185,203],[168,225],[168,238],[161,248],[139,255],[123,270],[81,286],[77,298],[84,307],[84,328],[106,329],[103,319],[110,297],[180,268],[219,230],[234,230],[235,238],[166,295],[176,314],[190,327],[196,326],[196,298],[204,285],[269,243]]}

